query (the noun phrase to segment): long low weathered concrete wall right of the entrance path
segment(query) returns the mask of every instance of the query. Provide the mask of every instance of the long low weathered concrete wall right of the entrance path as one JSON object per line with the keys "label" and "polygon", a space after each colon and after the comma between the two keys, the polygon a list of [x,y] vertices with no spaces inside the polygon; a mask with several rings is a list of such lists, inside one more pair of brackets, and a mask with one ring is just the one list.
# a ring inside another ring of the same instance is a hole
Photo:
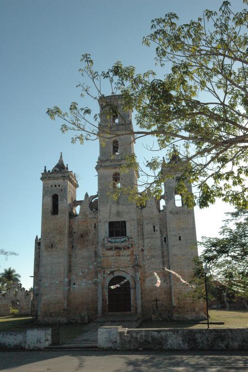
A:
{"label": "long low weathered concrete wall right of the entrance path", "polygon": [[248,350],[248,328],[128,329],[104,326],[98,330],[98,347],[116,350]]}

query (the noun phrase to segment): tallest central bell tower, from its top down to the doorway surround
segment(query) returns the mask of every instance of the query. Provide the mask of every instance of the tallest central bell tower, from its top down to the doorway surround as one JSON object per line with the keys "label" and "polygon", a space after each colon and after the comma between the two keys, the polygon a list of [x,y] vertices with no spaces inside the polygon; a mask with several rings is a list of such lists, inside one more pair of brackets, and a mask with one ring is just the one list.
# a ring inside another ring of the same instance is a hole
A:
{"label": "tallest central bell tower, from its top down to the doorway surround", "polygon": [[[133,277],[135,276],[133,267],[137,249],[137,208],[134,202],[129,201],[125,192],[121,192],[117,200],[111,194],[119,186],[137,187],[138,172],[120,171],[120,167],[126,162],[126,156],[134,153],[132,111],[123,109],[121,95],[103,96],[99,99],[99,106],[100,152],[96,170],[99,197],[98,254],[101,257],[98,271],[98,313],[101,315],[102,312],[111,311],[108,308],[108,294],[104,289],[107,288],[107,279],[104,283],[102,278],[111,270],[114,273],[113,267],[119,269],[118,275],[133,270]],[[115,257],[117,251],[118,258]],[[129,257],[129,261],[124,255]],[[136,287],[137,291],[139,289]],[[140,298],[140,293],[136,293],[136,299],[138,297]],[[133,304],[132,312],[136,310],[137,306]]]}

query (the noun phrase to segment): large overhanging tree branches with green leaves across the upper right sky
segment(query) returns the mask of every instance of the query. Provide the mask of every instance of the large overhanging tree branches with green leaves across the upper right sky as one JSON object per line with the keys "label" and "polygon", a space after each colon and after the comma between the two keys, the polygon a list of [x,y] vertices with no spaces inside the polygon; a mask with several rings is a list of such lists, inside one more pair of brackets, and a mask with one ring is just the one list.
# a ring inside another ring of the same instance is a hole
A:
{"label": "large overhanging tree branches with green leaves across the upper right sky", "polygon": [[[224,1],[218,13],[205,10],[197,20],[182,25],[177,24],[175,13],[153,19],[143,44],[156,46],[161,73],[170,70],[164,78],[157,78],[154,71],[136,74],[133,66],[121,62],[99,73],[91,56],[82,56],[81,96],[101,98],[111,116],[115,104],[108,105],[101,92],[102,81],[109,82],[112,94],[122,94],[124,108],[136,111],[135,139],[153,137],[167,161],[172,152],[181,157],[180,164],[171,162],[166,172],[160,171],[163,160],[159,156],[146,162],[146,171],[140,170],[135,155],[127,158],[127,166],[146,177],[139,189],[143,198],[159,197],[165,178],[176,172],[181,173],[177,193],[189,207],[196,203],[207,207],[221,198],[248,208],[248,0],[243,3],[246,8],[234,13],[230,1]],[[64,121],[63,132],[75,131],[72,142],[116,137],[111,125],[98,128],[99,115],[91,119],[92,110],[76,102],[69,113],[57,106],[47,113],[53,120]],[[194,195],[187,190],[186,180],[196,186]],[[136,194],[135,188],[122,191]]]}

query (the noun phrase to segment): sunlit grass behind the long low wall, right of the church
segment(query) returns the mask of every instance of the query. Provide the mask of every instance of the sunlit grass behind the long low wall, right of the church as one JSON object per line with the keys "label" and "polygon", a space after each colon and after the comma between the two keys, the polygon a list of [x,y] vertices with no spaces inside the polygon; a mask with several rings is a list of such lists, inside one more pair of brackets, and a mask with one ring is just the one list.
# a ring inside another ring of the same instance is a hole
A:
{"label": "sunlit grass behind the long low wall, right of the church", "polygon": [[[209,310],[210,322],[225,322],[223,325],[210,324],[210,328],[248,328],[247,310]],[[206,324],[180,322],[142,322],[139,328],[206,328]]]}

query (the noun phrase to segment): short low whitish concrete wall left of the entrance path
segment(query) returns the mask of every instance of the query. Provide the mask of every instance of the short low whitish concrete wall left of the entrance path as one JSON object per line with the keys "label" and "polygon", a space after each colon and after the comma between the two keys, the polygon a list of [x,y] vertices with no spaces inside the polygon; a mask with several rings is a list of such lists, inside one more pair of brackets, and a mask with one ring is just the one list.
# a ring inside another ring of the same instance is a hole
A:
{"label": "short low whitish concrete wall left of the entrance path", "polygon": [[51,344],[51,328],[30,328],[20,332],[0,332],[0,347],[44,349]]}

